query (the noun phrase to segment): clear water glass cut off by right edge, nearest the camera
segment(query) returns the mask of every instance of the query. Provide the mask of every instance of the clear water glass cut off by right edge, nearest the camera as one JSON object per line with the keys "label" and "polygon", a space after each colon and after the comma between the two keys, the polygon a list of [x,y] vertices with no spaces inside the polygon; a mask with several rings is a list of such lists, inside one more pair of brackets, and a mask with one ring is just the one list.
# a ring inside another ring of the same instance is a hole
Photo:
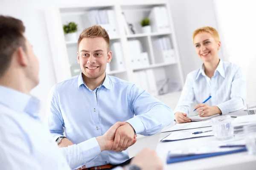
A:
{"label": "clear water glass cut off by right edge, nearest the camera", "polygon": [[256,124],[244,126],[245,144],[250,155],[256,155]]}

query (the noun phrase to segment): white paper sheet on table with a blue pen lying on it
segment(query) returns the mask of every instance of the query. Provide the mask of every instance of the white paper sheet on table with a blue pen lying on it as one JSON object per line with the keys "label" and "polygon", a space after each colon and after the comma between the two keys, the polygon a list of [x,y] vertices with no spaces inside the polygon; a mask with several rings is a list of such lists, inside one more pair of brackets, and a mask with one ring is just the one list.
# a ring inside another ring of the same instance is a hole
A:
{"label": "white paper sheet on table with a blue pen lying on it", "polygon": [[[195,130],[196,131],[196,130]],[[187,138],[195,138],[195,137],[202,137],[202,136],[213,136],[213,132],[205,132],[205,133],[199,133],[199,134],[192,134],[193,132],[172,132],[165,138],[163,138],[161,141],[175,141],[175,140],[181,140],[181,139],[187,139]]]}

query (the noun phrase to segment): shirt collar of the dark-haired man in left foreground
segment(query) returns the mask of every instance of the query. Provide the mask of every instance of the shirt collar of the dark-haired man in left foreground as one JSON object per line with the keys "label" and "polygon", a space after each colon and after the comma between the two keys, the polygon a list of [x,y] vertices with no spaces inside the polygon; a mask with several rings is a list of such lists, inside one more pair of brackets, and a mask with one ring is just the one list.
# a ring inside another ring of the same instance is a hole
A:
{"label": "shirt collar of the dark-haired man in left foreground", "polygon": [[0,103],[17,112],[28,113],[38,118],[40,101],[33,96],[24,94],[11,88],[0,85]]}

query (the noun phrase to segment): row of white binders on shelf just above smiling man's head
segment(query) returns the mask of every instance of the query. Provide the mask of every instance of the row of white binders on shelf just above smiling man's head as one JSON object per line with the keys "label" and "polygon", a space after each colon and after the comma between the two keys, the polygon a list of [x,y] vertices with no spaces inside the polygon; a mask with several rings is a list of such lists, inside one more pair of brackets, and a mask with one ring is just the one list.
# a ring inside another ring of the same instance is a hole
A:
{"label": "row of white binders on shelf just above smiling man's head", "polygon": [[108,32],[109,37],[117,37],[117,24],[113,9],[90,10],[82,15],[84,28],[101,25]]}

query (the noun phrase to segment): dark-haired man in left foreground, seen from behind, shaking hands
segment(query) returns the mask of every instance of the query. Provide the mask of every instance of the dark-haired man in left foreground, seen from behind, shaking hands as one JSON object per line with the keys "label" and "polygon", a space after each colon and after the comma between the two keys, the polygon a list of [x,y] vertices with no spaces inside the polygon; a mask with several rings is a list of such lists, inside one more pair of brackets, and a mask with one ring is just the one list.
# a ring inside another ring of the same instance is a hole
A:
{"label": "dark-haired man in left foreground, seen from behind, shaking hands", "polygon": [[[29,95],[38,85],[39,69],[24,31],[22,21],[0,15],[0,170],[70,170],[70,167],[81,167],[103,150],[111,150],[116,129],[125,122],[116,122],[102,136],[58,148],[37,115],[39,101]],[[151,150],[140,153],[130,166],[162,168]]]}

